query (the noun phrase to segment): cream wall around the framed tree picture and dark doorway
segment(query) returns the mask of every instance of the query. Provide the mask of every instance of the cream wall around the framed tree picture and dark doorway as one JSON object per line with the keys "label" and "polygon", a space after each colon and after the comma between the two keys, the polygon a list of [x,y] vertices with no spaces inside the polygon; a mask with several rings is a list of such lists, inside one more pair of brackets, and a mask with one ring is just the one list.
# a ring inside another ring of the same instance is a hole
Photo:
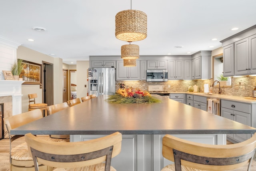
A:
{"label": "cream wall around the framed tree picture and dark doorway", "polygon": [[[17,58],[42,64],[42,61],[53,64],[53,92],[54,104],[62,103],[62,59],[53,58],[51,56],[42,54],[24,46],[19,46],[17,49]],[[22,84],[22,113],[28,111],[28,94],[37,93],[36,103],[42,103],[42,89],[38,84]]]}

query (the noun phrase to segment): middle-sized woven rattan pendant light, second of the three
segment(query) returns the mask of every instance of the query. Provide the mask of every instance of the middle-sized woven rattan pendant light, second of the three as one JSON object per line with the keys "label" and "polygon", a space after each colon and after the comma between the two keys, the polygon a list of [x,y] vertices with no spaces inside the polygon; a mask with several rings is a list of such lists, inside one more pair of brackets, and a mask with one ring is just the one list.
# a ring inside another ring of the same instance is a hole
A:
{"label": "middle-sized woven rattan pendant light, second of the three", "polygon": [[124,60],[136,60],[140,58],[140,47],[136,44],[121,46],[121,58]]}

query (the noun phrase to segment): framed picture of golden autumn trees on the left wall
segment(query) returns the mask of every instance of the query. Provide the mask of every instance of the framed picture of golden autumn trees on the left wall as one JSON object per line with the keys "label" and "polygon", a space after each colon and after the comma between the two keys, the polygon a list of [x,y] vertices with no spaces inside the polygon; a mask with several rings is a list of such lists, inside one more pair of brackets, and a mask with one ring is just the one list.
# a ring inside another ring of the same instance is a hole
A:
{"label": "framed picture of golden autumn trees on the left wall", "polygon": [[22,61],[24,64],[20,77],[25,81],[23,84],[42,84],[41,82],[41,66],[33,62]]}

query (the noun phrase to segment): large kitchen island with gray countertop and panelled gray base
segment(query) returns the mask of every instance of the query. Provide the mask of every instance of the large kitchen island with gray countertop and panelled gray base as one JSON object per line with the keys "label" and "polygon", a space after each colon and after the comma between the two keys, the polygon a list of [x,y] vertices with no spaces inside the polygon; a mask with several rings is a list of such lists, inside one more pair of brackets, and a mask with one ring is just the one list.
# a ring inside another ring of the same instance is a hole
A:
{"label": "large kitchen island with gray countertop and panelled gray base", "polygon": [[120,171],[160,171],[162,137],[225,144],[226,133],[255,133],[256,129],[189,105],[161,97],[162,103],[110,104],[107,96],[91,99],[11,130],[12,135],[66,134],[84,141],[115,131],[123,134],[122,151],[112,159]]}

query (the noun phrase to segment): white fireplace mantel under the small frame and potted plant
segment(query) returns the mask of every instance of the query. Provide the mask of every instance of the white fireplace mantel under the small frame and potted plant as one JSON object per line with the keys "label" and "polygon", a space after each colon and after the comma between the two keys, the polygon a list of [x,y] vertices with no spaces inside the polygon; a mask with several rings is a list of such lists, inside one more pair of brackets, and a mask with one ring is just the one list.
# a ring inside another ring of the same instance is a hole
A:
{"label": "white fireplace mantel under the small frame and potted plant", "polygon": [[12,115],[21,111],[21,84],[25,81],[0,80],[0,97],[12,96]]}

